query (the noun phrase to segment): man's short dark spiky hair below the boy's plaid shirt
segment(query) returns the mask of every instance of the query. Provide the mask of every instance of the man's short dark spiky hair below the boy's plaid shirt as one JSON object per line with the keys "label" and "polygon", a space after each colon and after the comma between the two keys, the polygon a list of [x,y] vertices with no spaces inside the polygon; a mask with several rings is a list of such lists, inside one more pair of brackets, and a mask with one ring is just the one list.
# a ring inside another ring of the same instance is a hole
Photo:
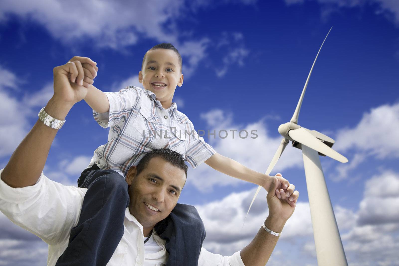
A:
{"label": "man's short dark spiky hair below the boy's plaid shirt", "polygon": [[172,166],[176,166],[186,173],[186,179],[187,179],[187,170],[188,166],[186,165],[186,161],[184,160],[184,157],[182,154],[175,152],[174,150],[171,149],[155,149],[150,152],[148,152],[146,155],[144,155],[143,158],[141,158],[140,162],[138,162],[137,167],[137,172],[136,175],[138,175],[142,170],[144,170],[148,166],[148,162],[154,157],[160,157],[164,159],[166,162],[172,164]]}

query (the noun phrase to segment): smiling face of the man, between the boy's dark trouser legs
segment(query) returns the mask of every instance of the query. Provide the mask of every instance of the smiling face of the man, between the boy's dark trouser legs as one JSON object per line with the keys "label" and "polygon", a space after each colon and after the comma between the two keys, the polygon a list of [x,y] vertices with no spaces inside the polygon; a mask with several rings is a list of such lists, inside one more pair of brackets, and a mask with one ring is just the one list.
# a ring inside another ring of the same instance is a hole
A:
{"label": "smiling face of the man, between the boy's dark trouser legs", "polygon": [[126,175],[129,185],[129,211],[144,227],[154,227],[176,206],[186,182],[184,170],[160,157],[154,157],[138,175],[136,167]]}

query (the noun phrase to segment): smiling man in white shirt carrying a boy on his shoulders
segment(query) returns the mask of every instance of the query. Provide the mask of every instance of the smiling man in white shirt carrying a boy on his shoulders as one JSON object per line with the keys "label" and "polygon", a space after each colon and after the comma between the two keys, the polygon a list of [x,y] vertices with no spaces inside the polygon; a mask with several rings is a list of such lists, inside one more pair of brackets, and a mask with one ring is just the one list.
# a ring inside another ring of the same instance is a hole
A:
{"label": "smiling man in white shirt carrying a boy on his shoulders", "polygon": [[[85,63],[95,65],[89,60]],[[69,82],[70,75],[84,76],[81,68],[71,69],[71,64],[65,64],[55,67],[53,73],[54,95],[41,111],[40,120],[1,171],[0,180],[0,210],[12,222],[49,244],[47,265],[55,265],[67,248],[69,234],[78,225],[81,211],[84,212],[81,205],[87,191],[85,188],[63,186],[47,179],[42,173],[49,148],[59,129],[54,121],[63,120],[72,106],[87,93],[82,85]],[[168,257],[165,241],[154,234],[155,244],[144,248],[144,236],[152,236],[151,230],[170,215],[185,180],[184,169],[158,155],[150,158],[140,171],[135,166],[129,169],[126,183],[130,199],[124,213],[125,230],[108,265],[165,264]],[[269,217],[263,225],[265,229],[261,228],[248,246],[230,257],[211,254],[202,248],[198,265],[267,263],[278,240],[275,234],[281,232],[294,211],[283,198],[275,196],[277,183],[275,177],[268,191]],[[297,198],[298,191],[292,195]],[[146,256],[148,254],[151,256]],[[105,262],[98,264],[103,265]]]}

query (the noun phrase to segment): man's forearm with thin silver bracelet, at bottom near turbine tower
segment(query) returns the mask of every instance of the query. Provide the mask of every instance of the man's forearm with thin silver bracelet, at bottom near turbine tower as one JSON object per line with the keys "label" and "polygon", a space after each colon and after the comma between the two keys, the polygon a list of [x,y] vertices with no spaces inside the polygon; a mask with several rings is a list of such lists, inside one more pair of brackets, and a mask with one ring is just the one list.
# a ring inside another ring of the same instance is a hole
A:
{"label": "man's forearm with thin silver bracelet, at bottom near turbine tower", "polygon": [[[265,221],[266,227],[277,233],[281,233],[285,223],[286,221],[271,216],[267,217]],[[279,236],[270,234],[261,227],[251,243],[240,252],[244,265],[264,266],[268,262],[278,240]]]}

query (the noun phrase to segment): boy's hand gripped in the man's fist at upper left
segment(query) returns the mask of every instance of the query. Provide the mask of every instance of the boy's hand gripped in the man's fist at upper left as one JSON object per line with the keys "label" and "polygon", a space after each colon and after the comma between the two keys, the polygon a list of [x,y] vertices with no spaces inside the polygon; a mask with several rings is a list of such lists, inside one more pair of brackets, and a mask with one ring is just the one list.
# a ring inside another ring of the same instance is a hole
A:
{"label": "boy's hand gripped in the man's fist at upper left", "polygon": [[86,88],[94,83],[99,69],[96,66],[97,63],[89,57],[74,56],[67,64],[71,64],[71,73],[68,78],[72,83]]}

